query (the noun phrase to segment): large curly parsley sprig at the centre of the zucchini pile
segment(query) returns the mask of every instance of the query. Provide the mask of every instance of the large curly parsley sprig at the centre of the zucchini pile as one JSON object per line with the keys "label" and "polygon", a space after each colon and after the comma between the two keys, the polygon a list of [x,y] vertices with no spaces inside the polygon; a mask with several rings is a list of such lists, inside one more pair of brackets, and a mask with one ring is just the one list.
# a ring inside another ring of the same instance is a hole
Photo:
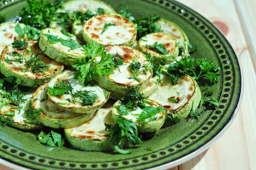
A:
{"label": "large curly parsley sprig at the centre of the zucchini pile", "polygon": [[[113,74],[114,63],[113,55],[107,54],[103,45],[95,44],[95,42],[88,42],[84,45],[86,50],[85,55],[90,57],[87,61],[85,58],[76,59],[72,67],[76,68],[74,78],[81,81],[83,84],[88,85],[92,81],[93,76],[109,76]],[[96,63],[94,59],[101,56],[101,60]]]}

